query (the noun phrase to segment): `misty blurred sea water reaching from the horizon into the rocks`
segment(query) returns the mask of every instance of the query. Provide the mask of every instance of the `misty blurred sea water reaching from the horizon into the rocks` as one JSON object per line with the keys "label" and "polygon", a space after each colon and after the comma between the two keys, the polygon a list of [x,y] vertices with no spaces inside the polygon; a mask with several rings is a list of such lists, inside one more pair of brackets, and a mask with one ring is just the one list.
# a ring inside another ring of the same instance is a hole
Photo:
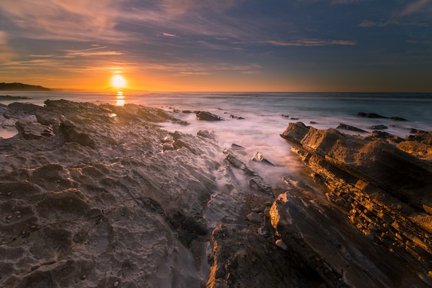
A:
{"label": "misty blurred sea water reaching from the horizon into the rocks", "polygon": [[[199,130],[213,131],[222,148],[232,144],[243,146],[248,155],[261,153],[275,166],[295,170],[300,164],[290,153],[291,147],[279,136],[290,122],[304,122],[315,128],[336,128],[347,124],[370,133],[371,126],[384,125],[384,131],[406,137],[411,128],[432,131],[432,94],[426,93],[87,93],[52,91],[40,93],[8,92],[0,95],[26,97],[1,100],[0,104],[30,102],[43,106],[46,99],[67,99],[75,102],[141,104],[167,111],[208,111],[225,121],[198,121],[195,113],[179,115],[187,126],[161,123],[170,132],[196,135]],[[377,113],[385,117],[371,119],[357,113]],[[239,119],[240,118],[240,119]],[[348,134],[368,135],[352,131]],[[1,137],[11,137],[14,129],[0,129]]]}

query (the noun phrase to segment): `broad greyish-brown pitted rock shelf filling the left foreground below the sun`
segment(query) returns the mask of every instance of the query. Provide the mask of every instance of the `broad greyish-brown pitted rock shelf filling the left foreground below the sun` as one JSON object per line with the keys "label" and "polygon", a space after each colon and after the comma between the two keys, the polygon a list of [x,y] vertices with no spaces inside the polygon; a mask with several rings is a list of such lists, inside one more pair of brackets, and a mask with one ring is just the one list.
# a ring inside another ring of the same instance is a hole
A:
{"label": "broad greyish-brown pitted rock shelf filling the left foreground below the sun", "polygon": [[47,101],[5,115],[19,135],[0,140],[0,287],[206,283],[190,247],[210,232],[213,141],[161,130],[182,122],[135,105]]}

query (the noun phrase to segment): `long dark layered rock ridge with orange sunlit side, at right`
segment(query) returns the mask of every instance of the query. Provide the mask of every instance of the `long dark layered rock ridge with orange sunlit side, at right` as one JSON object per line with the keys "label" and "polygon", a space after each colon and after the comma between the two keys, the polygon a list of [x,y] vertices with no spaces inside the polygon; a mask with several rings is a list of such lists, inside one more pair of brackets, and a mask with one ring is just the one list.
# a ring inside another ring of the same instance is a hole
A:
{"label": "long dark layered rock ridge with orange sunlit side, at right", "polygon": [[328,200],[342,203],[338,200],[344,198],[354,227],[406,267],[415,262],[419,275],[432,271],[431,164],[382,140],[320,131],[301,122],[291,123],[281,136],[320,175],[315,179],[328,187]]}

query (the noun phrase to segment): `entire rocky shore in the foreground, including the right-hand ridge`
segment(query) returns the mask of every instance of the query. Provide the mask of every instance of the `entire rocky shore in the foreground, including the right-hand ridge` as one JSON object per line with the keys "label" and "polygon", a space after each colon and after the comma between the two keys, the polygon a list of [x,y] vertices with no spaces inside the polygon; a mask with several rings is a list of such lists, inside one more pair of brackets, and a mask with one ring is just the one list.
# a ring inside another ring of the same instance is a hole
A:
{"label": "entire rocky shore in the foreground, including the right-hand ridge", "polygon": [[0,138],[1,288],[432,287],[426,131],[395,144],[291,123],[281,136],[318,191],[272,186],[265,155],[210,131],[159,126],[188,125],[181,111],[47,100],[0,115],[18,131]]}

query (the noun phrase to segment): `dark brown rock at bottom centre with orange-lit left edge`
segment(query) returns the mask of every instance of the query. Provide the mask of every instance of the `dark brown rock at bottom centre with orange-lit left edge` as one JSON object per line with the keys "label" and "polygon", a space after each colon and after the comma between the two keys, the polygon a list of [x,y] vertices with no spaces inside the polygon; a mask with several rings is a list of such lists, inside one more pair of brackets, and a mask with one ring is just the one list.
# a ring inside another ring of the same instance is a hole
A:
{"label": "dark brown rock at bottom centre with orange-lit left edge", "polygon": [[211,236],[208,288],[316,287],[324,281],[297,254],[251,231],[219,225]]}

